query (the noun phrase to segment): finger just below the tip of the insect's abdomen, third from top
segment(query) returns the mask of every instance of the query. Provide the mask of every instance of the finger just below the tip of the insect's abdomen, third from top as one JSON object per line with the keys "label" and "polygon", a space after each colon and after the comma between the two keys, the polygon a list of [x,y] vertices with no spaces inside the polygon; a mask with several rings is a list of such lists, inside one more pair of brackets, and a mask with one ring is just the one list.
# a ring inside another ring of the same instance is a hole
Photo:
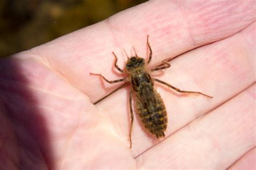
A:
{"label": "finger just below the tip of the insect's abdomen, third from top", "polygon": [[254,84],[143,153],[137,160],[143,158],[142,167],[145,169],[230,167],[256,143],[255,89]]}

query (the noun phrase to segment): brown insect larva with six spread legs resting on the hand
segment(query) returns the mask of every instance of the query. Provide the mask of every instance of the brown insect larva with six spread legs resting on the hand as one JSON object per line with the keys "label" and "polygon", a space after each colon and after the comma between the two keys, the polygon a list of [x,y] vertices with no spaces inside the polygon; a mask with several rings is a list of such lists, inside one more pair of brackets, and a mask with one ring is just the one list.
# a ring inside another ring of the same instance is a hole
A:
{"label": "brown insect larva with six spread legs resting on the hand", "polygon": [[[165,136],[164,132],[167,127],[167,112],[161,96],[159,95],[157,90],[154,88],[154,81],[158,83],[162,83],[167,87],[170,87],[178,91],[179,93],[204,95],[206,97],[212,98],[211,96],[205,95],[198,91],[183,91],[176,87],[173,87],[169,83],[166,83],[156,78],[152,78],[150,75],[150,72],[154,72],[160,69],[166,69],[166,68],[169,68],[171,65],[167,63],[167,61],[169,61],[170,59],[166,59],[162,61],[161,65],[157,66],[156,68],[148,70],[146,66],[150,63],[152,58],[152,49],[149,44],[149,36],[147,36],[147,46],[150,49],[149,60],[145,63],[145,60],[143,58],[140,58],[134,49],[136,56],[132,56],[131,58],[128,58],[127,56],[128,61],[126,62],[124,70],[120,69],[117,66],[117,56],[116,54],[114,54],[114,52],[112,52],[115,57],[114,67],[116,67],[119,70],[119,72],[125,73],[127,75],[127,77],[125,77],[124,79],[109,81],[101,74],[90,73],[92,75],[98,75],[102,77],[108,83],[117,83],[121,81],[126,82],[116,90],[112,91],[109,95],[111,95],[118,89],[123,88],[128,84],[131,84],[130,100],[129,100],[130,112],[131,112],[131,125],[130,125],[130,133],[129,133],[130,148],[132,147],[131,131],[132,131],[132,124],[133,124],[133,111],[132,111],[132,93],[133,92],[135,96],[136,110],[137,110],[140,122],[151,134],[156,135],[157,138]],[[103,100],[105,97],[101,98],[94,104]]]}

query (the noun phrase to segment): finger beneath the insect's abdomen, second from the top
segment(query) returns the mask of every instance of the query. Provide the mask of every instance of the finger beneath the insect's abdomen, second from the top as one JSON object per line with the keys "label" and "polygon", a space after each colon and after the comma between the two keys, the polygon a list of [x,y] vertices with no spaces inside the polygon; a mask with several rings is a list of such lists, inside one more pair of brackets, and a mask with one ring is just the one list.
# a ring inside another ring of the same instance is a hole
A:
{"label": "finger beneath the insect's abdomen, second from the top", "polygon": [[[182,90],[201,91],[214,96],[209,100],[203,96],[180,95],[155,83],[167,110],[169,123],[166,136],[217,108],[255,82],[255,49],[251,39],[255,34],[254,27],[253,24],[233,37],[181,55],[171,62],[172,67],[163,76],[157,76]],[[121,89],[109,96],[109,100],[98,103],[98,108],[109,110],[114,124],[121,129],[119,134],[123,138],[128,136],[130,122],[128,88]],[[138,116],[134,116],[134,156],[159,142],[154,136],[147,135],[147,131],[141,127]]]}

